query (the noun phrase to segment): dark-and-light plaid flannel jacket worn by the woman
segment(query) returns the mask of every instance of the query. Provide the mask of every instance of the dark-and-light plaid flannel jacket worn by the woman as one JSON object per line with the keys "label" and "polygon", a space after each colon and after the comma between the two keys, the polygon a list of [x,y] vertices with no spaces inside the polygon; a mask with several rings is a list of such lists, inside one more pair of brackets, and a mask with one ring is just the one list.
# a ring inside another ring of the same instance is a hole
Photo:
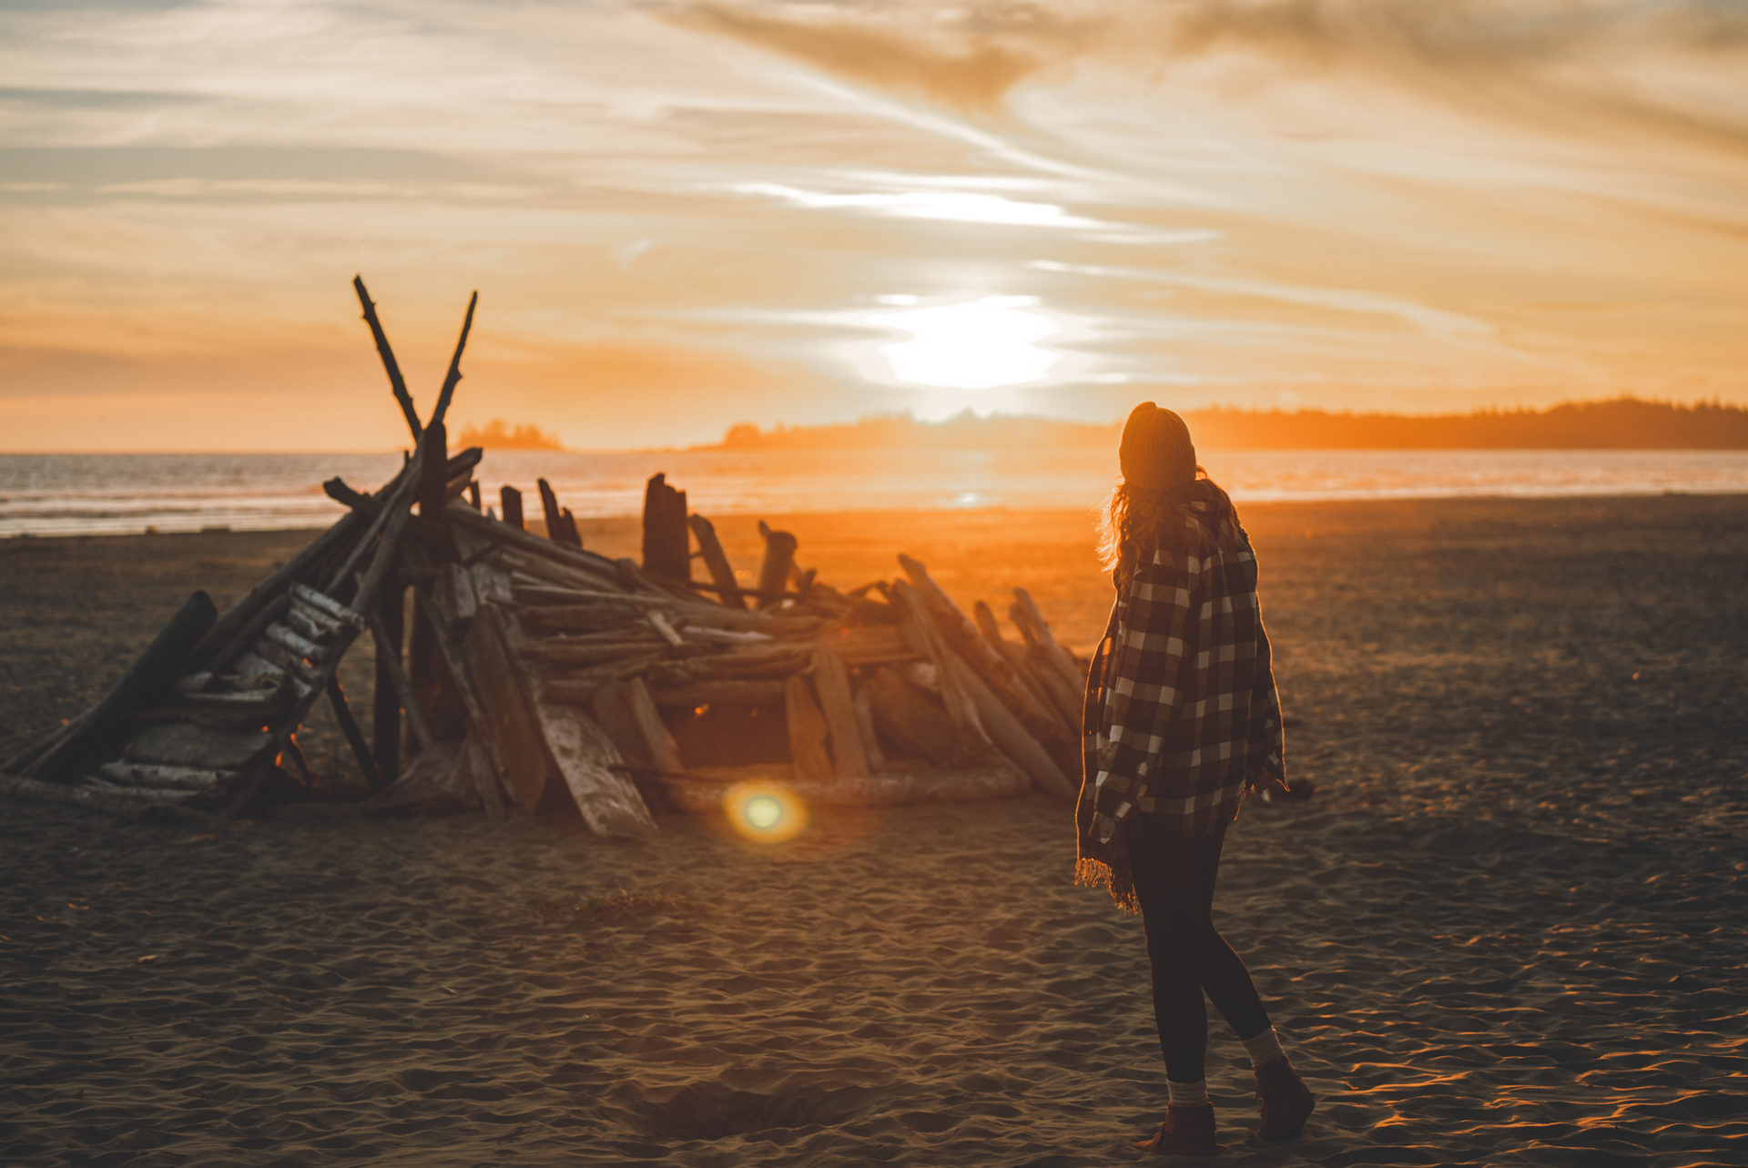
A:
{"label": "dark-and-light plaid flannel jacket worn by the woman", "polygon": [[[1194,523],[1199,505],[1190,505]],[[1201,528],[1201,525],[1196,525]],[[1206,528],[1201,528],[1206,533]],[[1134,813],[1203,836],[1264,775],[1285,782],[1281,705],[1257,605],[1257,558],[1236,523],[1201,551],[1159,551],[1112,614],[1091,836]],[[1089,710],[1091,713],[1091,710]]]}

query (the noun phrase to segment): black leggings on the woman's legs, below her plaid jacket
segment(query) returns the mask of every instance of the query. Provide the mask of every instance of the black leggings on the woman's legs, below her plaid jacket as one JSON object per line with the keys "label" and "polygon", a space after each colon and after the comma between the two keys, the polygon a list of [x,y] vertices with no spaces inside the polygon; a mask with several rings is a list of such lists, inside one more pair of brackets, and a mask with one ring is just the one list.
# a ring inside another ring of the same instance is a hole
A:
{"label": "black leggings on the woman's legs, below her plaid jacket", "polygon": [[1136,815],[1126,832],[1154,965],[1154,1023],[1166,1079],[1196,1082],[1206,1077],[1204,990],[1239,1039],[1255,1039],[1269,1028],[1245,960],[1213,927],[1213,881],[1220,874],[1225,827],[1211,836],[1173,836],[1159,831],[1152,817]]}

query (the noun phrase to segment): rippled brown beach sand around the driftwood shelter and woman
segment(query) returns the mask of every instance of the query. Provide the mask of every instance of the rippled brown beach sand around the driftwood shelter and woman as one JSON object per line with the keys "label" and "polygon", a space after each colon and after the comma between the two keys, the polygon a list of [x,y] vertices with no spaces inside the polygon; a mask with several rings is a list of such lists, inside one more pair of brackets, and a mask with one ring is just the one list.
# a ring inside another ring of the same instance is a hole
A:
{"label": "rippled brown beach sand around the driftwood shelter and woman", "polygon": [[[1320,792],[1245,813],[1217,913],[1320,1103],[1257,1144],[1215,1019],[1224,1161],[1748,1159],[1748,500],[1246,521]],[[1101,628],[1084,514],[790,526],[832,581],[907,547],[961,600],[1019,581],[1068,640]],[[301,539],[0,544],[0,750]],[[0,1163],[1140,1159],[1140,925],[1068,883],[1063,804],[661,829],[0,806]]]}

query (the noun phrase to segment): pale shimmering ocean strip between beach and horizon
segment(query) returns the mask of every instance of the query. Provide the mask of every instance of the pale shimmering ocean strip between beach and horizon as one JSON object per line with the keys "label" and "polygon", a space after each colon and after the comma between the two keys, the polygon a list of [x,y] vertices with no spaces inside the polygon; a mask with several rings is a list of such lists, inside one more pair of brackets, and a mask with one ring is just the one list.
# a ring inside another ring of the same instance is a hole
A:
{"label": "pale shimmering ocean strip between beach and horizon", "polygon": [[[0,537],[323,526],[339,476],[374,490],[402,455],[0,455]],[[1239,502],[1748,493],[1748,451],[1203,451]],[[1094,507],[1115,458],[1065,451],[488,451],[498,486],[545,477],[579,516],[636,514],[662,470],[703,514]]]}

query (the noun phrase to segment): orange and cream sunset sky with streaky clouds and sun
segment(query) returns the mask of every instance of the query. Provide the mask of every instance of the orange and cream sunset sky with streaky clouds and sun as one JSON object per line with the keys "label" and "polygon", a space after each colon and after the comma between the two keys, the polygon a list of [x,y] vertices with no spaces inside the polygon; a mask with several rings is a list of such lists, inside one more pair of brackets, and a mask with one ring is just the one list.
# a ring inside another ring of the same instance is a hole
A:
{"label": "orange and cream sunset sky with streaky clouds and sun", "polygon": [[0,0],[0,449],[1748,402],[1745,0]]}

